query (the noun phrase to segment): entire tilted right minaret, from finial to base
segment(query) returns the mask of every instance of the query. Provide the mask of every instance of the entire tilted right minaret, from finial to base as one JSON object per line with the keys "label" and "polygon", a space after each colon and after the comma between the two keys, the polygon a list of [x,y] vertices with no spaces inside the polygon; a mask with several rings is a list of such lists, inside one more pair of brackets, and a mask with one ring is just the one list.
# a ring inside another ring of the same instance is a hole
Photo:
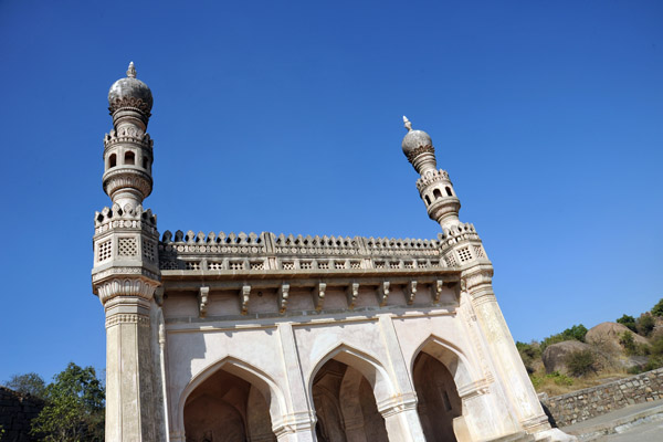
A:
{"label": "entire tilted right minaret, from finial to base", "polygon": [[[429,217],[439,222],[440,254],[448,267],[455,267],[461,276],[461,307],[477,320],[478,327],[497,376],[523,430],[529,433],[552,431],[532,387],[518,350],[508,330],[495,293],[493,292],[493,264],[488,260],[474,225],[459,220],[461,202],[446,171],[436,169],[435,150],[431,137],[422,130],[412,130],[403,117],[408,134],[402,148],[421,176],[417,188]],[[557,439],[552,439],[557,440]]]}

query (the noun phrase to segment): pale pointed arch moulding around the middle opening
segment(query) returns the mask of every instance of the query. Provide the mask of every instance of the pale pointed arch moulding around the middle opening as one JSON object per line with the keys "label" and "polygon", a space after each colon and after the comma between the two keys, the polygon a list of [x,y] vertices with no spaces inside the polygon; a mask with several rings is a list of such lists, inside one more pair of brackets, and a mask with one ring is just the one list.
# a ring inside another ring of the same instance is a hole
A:
{"label": "pale pointed arch moulding around the middle opening", "polygon": [[324,356],[317,360],[317,362],[314,365],[314,368],[308,373],[306,386],[311,403],[313,403],[313,382],[315,376],[330,359],[336,359],[339,362],[358,370],[366,378],[368,383],[370,383],[377,403],[387,401],[394,393],[393,385],[389,373],[376,357],[346,343],[340,343],[324,354]]}

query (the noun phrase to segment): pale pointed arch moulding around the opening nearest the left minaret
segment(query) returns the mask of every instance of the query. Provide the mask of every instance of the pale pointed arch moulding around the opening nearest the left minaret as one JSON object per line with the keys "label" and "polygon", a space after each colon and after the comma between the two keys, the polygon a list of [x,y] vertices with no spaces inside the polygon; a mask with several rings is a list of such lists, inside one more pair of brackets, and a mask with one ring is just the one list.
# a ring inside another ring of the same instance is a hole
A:
{"label": "pale pointed arch moulding around the opening nearest the left minaret", "polygon": [[254,386],[265,398],[270,407],[270,415],[273,423],[280,422],[283,419],[283,415],[286,413],[285,397],[274,379],[242,359],[227,356],[198,372],[182,390],[176,410],[177,414],[173,419],[179,429],[182,431],[185,429],[185,406],[189,396],[219,370],[234,375]]}

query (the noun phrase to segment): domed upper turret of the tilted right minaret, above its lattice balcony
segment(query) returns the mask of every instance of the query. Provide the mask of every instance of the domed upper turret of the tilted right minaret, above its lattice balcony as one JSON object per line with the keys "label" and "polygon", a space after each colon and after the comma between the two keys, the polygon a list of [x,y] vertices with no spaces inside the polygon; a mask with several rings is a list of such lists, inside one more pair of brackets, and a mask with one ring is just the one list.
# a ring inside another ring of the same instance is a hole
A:
{"label": "domed upper turret of the tilted right minaret, above its lattice balcony", "polygon": [[444,231],[459,223],[461,201],[445,170],[438,170],[435,148],[431,137],[423,130],[413,130],[412,123],[403,116],[408,134],[403,138],[403,154],[421,176],[417,189],[429,217],[440,223]]}

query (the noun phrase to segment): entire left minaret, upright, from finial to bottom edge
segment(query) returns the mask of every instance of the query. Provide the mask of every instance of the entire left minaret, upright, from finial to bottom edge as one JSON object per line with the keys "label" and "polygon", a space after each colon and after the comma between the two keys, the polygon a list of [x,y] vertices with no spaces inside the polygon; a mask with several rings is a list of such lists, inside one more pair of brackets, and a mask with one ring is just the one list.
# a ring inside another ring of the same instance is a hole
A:
{"label": "entire left minaret, upright, from finial to bottom edge", "polygon": [[[157,219],[143,210],[152,189],[152,141],[146,133],[149,87],[127,76],[110,86],[114,129],[104,137],[104,191],[112,208],[95,214],[92,285],[106,313],[106,441],[155,441],[154,294],[160,284]],[[151,318],[150,318],[151,316]]]}

